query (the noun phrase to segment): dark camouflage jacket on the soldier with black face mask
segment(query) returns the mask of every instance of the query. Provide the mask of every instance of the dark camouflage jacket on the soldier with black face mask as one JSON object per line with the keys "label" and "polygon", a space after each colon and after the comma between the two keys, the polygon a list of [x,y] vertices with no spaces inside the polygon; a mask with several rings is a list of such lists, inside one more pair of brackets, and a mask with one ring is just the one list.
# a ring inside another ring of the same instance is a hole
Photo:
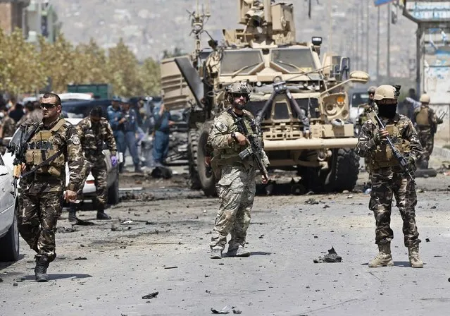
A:
{"label": "dark camouflage jacket on the soldier with black face mask", "polygon": [[[406,158],[407,159],[412,158],[414,159],[414,162],[416,162],[417,159],[422,154],[423,149],[422,145],[420,145],[417,131],[415,130],[411,120],[404,115],[396,114],[394,119],[392,120],[382,119],[382,121],[387,129],[392,128],[394,126],[399,130],[401,140],[406,141],[406,143],[408,144],[407,145],[408,150],[405,153]],[[377,162],[377,159],[375,158],[376,157],[375,152],[377,151],[377,149],[380,149],[381,147],[384,148],[384,150],[389,150],[385,140],[381,141],[381,145],[377,145],[375,143],[374,136],[375,133],[377,133],[377,130],[378,128],[377,126],[375,126],[375,123],[373,123],[373,121],[371,120],[365,121],[359,134],[358,145],[356,145],[356,152],[359,154],[359,156],[368,157],[371,163]],[[398,140],[395,140],[393,138],[392,141],[394,142],[394,145],[396,147],[398,145],[400,145],[401,147],[401,144],[398,144],[399,142]],[[387,166],[379,169],[379,171],[377,171],[377,174],[387,176],[388,174],[392,175],[395,172],[399,172],[399,170],[400,166],[398,163],[396,163],[393,166]]]}

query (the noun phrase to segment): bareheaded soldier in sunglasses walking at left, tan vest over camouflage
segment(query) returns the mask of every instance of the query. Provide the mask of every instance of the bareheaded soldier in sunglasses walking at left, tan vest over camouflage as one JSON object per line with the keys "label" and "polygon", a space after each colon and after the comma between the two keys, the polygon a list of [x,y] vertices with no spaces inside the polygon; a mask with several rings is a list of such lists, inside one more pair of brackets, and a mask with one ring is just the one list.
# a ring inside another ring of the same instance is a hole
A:
{"label": "bareheaded soldier in sunglasses walking at left, tan vest over camouflage", "polygon": [[[56,221],[61,215],[62,202],[75,200],[82,182],[83,156],[80,137],[72,124],[60,119],[61,99],[46,93],[41,102],[42,122],[26,126],[27,137],[23,178],[20,179],[20,212],[18,227],[20,235],[36,251],[35,275],[38,282],[48,281],[49,263],[56,257]],[[25,135],[26,135],[25,134]],[[50,157],[56,157],[37,169]],[[68,163],[70,178],[65,188],[65,163]]]}

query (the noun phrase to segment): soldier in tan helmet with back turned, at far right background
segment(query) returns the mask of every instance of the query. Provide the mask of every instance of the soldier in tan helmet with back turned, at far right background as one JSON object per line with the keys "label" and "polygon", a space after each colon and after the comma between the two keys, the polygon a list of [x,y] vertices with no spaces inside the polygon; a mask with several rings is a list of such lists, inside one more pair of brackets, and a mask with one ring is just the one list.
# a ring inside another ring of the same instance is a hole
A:
{"label": "soldier in tan helmet with back turned, at far right background", "polygon": [[418,160],[418,167],[420,169],[428,169],[428,161],[435,145],[437,125],[442,124],[444,121],[437,117],[433,109],[430,109],[429,95],[421,95],[419,101],[421,105],[414,110],[413,114],[420,144],[423,147],[423,155]]}

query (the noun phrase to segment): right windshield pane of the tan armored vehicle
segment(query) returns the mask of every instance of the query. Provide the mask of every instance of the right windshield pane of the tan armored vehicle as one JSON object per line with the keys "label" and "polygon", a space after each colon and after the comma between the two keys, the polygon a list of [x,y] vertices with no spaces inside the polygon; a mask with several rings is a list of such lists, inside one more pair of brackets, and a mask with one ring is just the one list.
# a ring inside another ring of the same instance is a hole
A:
{"label": "right windshield pane of the tan armored vehicle", "polygon": [[309,49],[272,49],[272,61],[287,71],[295,73],[315,69],[313,55]]}

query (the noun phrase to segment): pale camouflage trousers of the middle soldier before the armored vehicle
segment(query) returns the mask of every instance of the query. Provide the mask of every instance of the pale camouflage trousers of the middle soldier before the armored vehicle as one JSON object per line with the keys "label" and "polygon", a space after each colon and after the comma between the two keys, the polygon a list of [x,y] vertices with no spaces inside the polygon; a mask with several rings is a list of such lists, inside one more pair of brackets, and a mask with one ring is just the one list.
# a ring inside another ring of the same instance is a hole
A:
{"label": "pale camouflage trousers of the middle soldier before the armored vehicle", "polygon": [[224,166],[216,188],[220,206],[215,217],[211,249],[224,249],[228,233],[228,250],[244,246],[250,224],[250,212],[255,199],[255,171],[244,167]]}

